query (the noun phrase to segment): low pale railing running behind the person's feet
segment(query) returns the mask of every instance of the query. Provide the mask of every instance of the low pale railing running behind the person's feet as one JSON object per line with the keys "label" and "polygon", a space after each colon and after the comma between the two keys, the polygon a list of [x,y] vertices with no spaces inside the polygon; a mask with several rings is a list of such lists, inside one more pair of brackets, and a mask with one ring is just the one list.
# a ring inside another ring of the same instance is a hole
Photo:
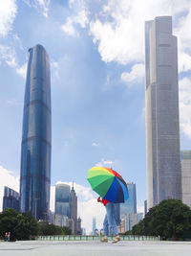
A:
{"label": "low pale railing running behind the person's feet", "polygon": [[[99,241],[100,236],[83,236],[83,235],[54,235],[54,236],[38,236],[35,237],[36,241]],[[108,240],[114,240],[115,236],[108,237]],[[125,236],[120,235],[121,241],[157,241],[158,237],[153,236]]]}

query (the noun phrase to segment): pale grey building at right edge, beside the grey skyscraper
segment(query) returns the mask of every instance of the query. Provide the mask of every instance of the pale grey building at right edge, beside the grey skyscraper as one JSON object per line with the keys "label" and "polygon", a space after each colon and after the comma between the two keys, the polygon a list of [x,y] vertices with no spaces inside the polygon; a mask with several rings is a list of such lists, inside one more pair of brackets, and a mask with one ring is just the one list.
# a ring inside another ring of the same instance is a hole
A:
{"label": "pale grey building at right edge, beside the grey skyscraper", "polygon": [[191,207],[191,151],[181,151],[182,202]]}

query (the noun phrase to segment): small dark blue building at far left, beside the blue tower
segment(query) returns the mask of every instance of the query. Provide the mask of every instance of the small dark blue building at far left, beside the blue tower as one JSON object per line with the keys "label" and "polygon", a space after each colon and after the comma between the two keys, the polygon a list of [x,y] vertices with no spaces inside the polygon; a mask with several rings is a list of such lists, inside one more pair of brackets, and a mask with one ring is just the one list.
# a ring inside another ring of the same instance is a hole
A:
{"label": "small dark blue building at far left, beside the blue tower", "polygon": [[4,187],[3,210],[12,208],[15,211],[20,211],[20,196],[19,193],[9,187]]}

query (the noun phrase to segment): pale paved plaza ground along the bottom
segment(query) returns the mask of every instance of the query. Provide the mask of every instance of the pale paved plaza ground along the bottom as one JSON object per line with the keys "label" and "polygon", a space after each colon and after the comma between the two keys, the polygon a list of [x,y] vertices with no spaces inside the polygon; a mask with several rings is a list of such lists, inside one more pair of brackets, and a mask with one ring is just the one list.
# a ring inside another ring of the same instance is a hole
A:
{"label": "pale paved plaza ground along the bottom", "polygon": [[2,256],[190,256],[191,242],[15,242],[0,243]]}

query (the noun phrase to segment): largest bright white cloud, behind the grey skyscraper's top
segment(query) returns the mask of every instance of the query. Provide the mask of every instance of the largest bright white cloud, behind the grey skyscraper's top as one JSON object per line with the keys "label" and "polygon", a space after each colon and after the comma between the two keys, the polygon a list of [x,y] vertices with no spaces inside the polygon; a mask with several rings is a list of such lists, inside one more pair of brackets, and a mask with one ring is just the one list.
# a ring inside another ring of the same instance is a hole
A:
{"label": "largest bright white cloud, behind the grey skyscraper's top", "polygon": [[[144,59],[145,21],[159,15],[190,13],[190,5],[188,0],[108,0],[90,22],[90,34],[103,61],[120,64],[141,61]],[[190,18],[186,24],[189,31]],[[182,32],[182,26],[179,32]],[[189,33],[185,34],[190,38]]]}

